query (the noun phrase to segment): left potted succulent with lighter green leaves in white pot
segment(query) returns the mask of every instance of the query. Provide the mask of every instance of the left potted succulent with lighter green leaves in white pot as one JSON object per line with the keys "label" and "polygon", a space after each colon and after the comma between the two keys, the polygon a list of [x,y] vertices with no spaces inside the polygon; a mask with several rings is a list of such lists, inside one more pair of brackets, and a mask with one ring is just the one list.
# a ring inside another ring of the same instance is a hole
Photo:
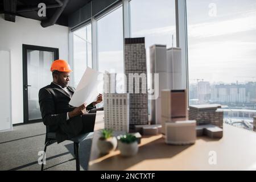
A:
{"label": "left potted succulent with lighter green leaves in white pot", "polygon": [[102,130],[97,146],[101,154],[109,154],[110,151],[114,151],[117,148],[117,138],[113,137],[113,131],[108,129]]}

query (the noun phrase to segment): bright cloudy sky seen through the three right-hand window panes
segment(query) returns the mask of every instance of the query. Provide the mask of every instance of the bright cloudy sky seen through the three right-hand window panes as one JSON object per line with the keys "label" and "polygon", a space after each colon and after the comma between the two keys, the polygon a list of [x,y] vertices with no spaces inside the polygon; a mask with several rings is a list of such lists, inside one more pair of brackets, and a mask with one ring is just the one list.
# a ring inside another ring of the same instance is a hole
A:
{"label": "bright cloudy sky seen through the three right-hand window panes", "polygon": [[[143,7],[143,8],[142,8]],[[256,1],[187,0],[189,81],[256,81]],[[99,70],[123,69],[122,9],[98,20]],[[175,0],[131,0],[131,36],[176,46]]]}

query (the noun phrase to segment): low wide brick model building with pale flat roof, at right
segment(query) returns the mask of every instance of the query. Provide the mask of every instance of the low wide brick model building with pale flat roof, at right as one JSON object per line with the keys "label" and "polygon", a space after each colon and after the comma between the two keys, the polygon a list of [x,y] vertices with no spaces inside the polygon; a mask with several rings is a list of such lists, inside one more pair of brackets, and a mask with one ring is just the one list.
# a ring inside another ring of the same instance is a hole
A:
{"label": "low wide brick model building with pale flat roof, at right", "polygon": [[188,117],[195,119],[197,125],[215,125],[222,129],[223,111],[221,105],[191,105],[189,106]]}

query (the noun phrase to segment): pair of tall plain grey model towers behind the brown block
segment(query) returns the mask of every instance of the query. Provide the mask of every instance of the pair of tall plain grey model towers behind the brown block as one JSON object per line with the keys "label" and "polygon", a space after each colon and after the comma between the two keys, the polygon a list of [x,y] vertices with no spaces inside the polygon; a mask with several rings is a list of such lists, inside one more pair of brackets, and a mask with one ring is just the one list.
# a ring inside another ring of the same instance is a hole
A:
{"label": "pair of tall plain grey model towers behind the brown block", "polygon": [[[161,98],[163,89],[185,89],[185,61],[181,59],[180,48],[166,48],[166,45],[154,45],[150,47],[150,72],[159,75],[158,83],[152,80],[152,88],[158,89],[159,97],[151,101],[151,123],[159,124],[161,116]],[[158,88],[157,86],[158,85]]]}

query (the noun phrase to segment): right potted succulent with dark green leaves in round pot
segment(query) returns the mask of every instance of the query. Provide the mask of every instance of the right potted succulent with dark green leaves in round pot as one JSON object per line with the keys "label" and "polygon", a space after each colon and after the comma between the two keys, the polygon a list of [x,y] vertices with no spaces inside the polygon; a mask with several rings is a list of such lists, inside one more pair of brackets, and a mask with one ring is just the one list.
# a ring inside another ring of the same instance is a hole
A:
{"label": "right potted succulent with dark green leaves in round pot", "polygon": [[126,134],[119,138],[118,149],[122,156],[133,156],[138,152],[138,140],[132,134]]}

